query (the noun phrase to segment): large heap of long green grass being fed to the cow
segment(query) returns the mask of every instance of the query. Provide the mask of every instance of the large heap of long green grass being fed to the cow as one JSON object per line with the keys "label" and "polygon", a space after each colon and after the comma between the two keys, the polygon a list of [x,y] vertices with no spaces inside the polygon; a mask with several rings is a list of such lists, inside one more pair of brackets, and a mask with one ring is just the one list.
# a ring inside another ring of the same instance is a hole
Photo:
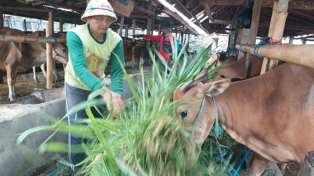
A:
{"label": "large heap of long green grass being fed to the cow", "polygon": [[[200,146],[189,138],[191,126],[186,126],[182,120],[175,116],[175,105],[172,97],[173,91],[181,83],[195,78],[204,68],[209,59],[211,45],[201,49],[193,59],[188,61],[184,48],[178,54],[173,47],[175,55],[174,65],[169,73],[159,71],[158,63],[154,62],[152,75],[147,76],[141,69],[141,80],[136,84],[124,70],[125,78],[130,86],[132,97],[125,100],[127,108],[121,111],[120,120],[109,117],[110,112],[101,113],[95,117],[91,108],[104,105],[102,99],[95,99],[104,93],[104,89],[94,91],[88,100],[78,104],[68,113],[85,109],[89,119],[83,119],[85,125],[68,126],[64,118],[50,119],[52,126],[35,127],[27,130],[17,140],[23,145],[25,137],[32,132],[52,131],[52,135],[38,148],[39,154],[44,152],[64,152],[67,144],[51,142],[50,138],[57,132],[83,134],[83,139],[91,141],[86,145],[83,141],[81,147],[87,154],[78,165],[83,169],[75,175],[81,176],[217,176],[227,175],[233,170],[235,161],[231,161],[234,153],[228,147],[228,154],[224,156],[226,163],[222,164],[217,156],[217,146],[212,140],[206,140],[202,150]],[[176,57],[177,56],[177,57]],[[189,62],[189,63],[188,63]],[[123,66],[122,63],[120,63]],[[166,63],[162,63],[166,64]],[[142,65],[142,64],[140,64]],[[26,147],[26,146],[24,146]],[[227,168],[228,167],[228,168]]]}

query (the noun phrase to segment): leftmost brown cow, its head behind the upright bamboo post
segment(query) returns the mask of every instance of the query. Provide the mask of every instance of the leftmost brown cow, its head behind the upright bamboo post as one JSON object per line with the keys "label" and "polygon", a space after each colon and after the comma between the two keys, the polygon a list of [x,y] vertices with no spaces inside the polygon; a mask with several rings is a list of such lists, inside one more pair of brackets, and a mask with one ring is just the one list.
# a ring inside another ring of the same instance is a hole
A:
{"label": "leftmost brown cow, its head behind the upright bamboo post", "polygon": [[[18,29],[1,27],[0,34],[25,36]],[[60,62],[66,63],[68,57],[67,48],[54,45],[52,55]],[[24,72],[32,66],[38,66],[46,62],[46,49],[36,43],[0,42],[0,69],[6,69],[7,82],[9,85],[9,98],[14,100],[16,96],[15,81],[16,73]],[[3,63],[3,64],[2,64]]]}

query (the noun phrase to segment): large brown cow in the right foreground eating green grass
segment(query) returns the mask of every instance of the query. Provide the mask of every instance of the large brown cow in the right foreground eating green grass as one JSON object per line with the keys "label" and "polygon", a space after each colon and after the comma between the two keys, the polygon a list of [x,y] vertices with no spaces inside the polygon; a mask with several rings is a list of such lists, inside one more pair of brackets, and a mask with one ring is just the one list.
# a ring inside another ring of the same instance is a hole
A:
{"label": "large brown cow in the right foreground eating green grass", "polygon": [[285,63],[233,83],[230,79],[207,83],[207,78],[205,71],[195,83],[176,89],[173,98],[183,103],[176,114],[191,125],[205,99],[200,129],[192,133],[199,145],[209,135],[217,114],[223,129],[255,152],[246,173],[249,176],[260,176],[269,161],[302,163],[314,151],[313,68]]}

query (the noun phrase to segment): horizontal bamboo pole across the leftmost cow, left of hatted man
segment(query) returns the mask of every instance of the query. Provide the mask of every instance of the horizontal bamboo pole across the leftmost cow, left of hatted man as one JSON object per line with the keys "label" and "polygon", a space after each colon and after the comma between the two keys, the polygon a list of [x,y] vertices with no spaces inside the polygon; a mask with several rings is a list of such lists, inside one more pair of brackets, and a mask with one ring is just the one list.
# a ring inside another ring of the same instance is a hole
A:
{"label": "horizontal bamboo pole across the leftmost cow, left of hatted man", "polygon": [[52,38],[52,37],[38,37],[38,36],[0,35],[0,42],[54,44],[54,43],[67,43],[67,39],[66,38]]}

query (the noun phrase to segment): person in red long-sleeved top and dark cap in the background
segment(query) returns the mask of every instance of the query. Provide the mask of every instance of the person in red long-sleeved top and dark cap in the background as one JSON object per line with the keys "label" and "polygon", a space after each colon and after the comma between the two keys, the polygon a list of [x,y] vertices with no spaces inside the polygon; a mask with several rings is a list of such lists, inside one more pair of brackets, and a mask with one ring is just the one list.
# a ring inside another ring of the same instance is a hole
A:
{"label": "person in red long-sleeved top and dark cap in the background", "polygon": [[[162,33],[159,35],[144,35],[144,34],[137,34],[135,37],[143,37],[144,39],[149,39],[151,41],[159,41],[160,46],[159,46],[159,53],[160,56],[158,58],[159,61],[159,70],[161,68],[164,68],[164,66],[161,63],[161,59],[166,60],[166,63],[168,66],[173,65],[173,57],[172,57],[172,49],[171,49],[171,44],[170,44],[170,38],[173,41],[173,44],[175,42],[175,38],[172,35],[172,25],[169,22],[165,22],[162,24]],[[168,70],[169,71],[169,70]]]}

